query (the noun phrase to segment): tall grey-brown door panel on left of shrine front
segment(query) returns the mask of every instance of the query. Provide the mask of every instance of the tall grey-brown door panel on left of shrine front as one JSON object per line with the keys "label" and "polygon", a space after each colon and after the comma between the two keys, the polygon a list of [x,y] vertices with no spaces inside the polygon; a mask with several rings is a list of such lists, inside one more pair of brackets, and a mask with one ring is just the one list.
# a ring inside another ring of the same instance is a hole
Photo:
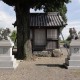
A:
{"label": "tall grey-brown door panel on left of shrine front", "polygon": [[34,44],[37,46],[46,45],[45,29],[35,29],[35,31],[34,31]]}

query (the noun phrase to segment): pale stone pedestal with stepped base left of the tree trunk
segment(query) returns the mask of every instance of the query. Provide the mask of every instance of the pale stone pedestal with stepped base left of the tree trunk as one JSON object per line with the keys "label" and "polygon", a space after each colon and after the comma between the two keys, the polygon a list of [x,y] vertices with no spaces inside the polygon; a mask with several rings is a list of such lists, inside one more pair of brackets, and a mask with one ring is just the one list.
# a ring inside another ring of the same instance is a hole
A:
{"label": "pale stone pedestal with stepped base left of the tree trunk", "polygon": [[0,68],[14,69],[18,66],[14,55],[12,55],[12,47],[14,43],[11,40],[0,41]]}

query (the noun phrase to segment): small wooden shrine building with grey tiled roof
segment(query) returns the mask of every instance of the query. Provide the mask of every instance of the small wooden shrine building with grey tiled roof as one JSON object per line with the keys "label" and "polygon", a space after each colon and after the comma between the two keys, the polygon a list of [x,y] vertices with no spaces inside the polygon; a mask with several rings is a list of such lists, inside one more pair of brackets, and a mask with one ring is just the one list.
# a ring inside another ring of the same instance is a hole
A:
{"label": "small wooden shrine building with grey tiled roof", "polygon": [[66,23],[58,12],[30,13],[29,20],[33,51],[59,48],[60,30]]}

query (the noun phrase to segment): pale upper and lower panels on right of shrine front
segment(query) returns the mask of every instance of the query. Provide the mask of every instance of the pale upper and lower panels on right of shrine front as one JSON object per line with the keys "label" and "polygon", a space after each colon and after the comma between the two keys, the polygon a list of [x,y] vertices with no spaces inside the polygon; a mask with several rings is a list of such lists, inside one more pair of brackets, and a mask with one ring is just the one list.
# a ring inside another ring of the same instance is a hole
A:
{"label": "pale upper and lower panels on right of shrine front", "polygon": [[52,50],[57,48],[58,42],[58,32],[57,29],[47,29],[47,50]]}

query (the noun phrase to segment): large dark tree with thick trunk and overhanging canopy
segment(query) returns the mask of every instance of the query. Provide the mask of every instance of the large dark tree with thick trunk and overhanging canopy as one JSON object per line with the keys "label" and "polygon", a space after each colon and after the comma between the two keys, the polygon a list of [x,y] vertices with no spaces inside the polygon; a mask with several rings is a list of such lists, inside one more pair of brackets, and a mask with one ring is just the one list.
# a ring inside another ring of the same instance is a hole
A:
{"label": "large dark tree with thick trunk and overhanging canopy", "polygon": [[[17,55],[19,59],[31,58],[31,41],[29,27],[30,8],[60,10],[70,0],[2,0],[6,4],[15,7],[17,22]],[[50,10],[49,10],[50,11]]]}

